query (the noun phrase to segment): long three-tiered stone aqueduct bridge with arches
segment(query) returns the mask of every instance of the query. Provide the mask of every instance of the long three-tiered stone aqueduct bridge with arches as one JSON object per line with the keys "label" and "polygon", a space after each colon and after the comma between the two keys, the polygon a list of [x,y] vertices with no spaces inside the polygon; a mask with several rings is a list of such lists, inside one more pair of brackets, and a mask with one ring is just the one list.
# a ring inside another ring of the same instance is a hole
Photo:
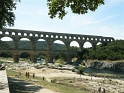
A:
{"label": "long three-tiered stone aqueduct bridge with arches", "polygon": [[[10,37],[14,42],[14,49],[0,49],[0,54],[3,52],[10,52],[12,54],[14,62],[19,62],[19,56],[21,53],[26,52],[30,55],[31,61],[36,62],[37,55],[43,53],[47,56],[48,62],[53,62],[55,54],[64,53],[67,58],[67,62],[71,61],[70,55],[75,51],[70,51],[70,43],[76,41],[79,44],[80,50],[83,50],[85,42],[90,42],[92,48],[95,49],[97,43],[101,42],[106,44],[114,40],[113,37],[93,36],[93,35],[80,35],[80,34],[66,34],[66,33],[52,33],[43,31],[30,31],[30,30],[18,30],[18,29],[2,29],[0,30],[0,39],[3,37]],[[23,50],[18,48],[18,42],[21,38],[27,38],[31,41],[32,49]],[[36,42],[38,39],[44,39],[47,44],[47,50],[37,50]],[[65,51],[52,50],[53,42],[61,40],[66,47]]]}

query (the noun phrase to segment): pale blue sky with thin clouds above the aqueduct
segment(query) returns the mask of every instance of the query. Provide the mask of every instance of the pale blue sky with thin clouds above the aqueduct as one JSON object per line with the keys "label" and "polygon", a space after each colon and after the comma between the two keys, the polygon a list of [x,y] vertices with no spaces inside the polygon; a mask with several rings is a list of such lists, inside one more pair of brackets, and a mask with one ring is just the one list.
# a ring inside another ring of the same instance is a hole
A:
{"label": "pale blue sky with thin clouds above the aqueduct", "polygon": [[[47,0],[21,0],[15,11],[14,29],[37,30],[124,39],[124,0],[105,0],[95,12],[68,14],[50,19]],[[10,28],[10,27],[9,27]]]}

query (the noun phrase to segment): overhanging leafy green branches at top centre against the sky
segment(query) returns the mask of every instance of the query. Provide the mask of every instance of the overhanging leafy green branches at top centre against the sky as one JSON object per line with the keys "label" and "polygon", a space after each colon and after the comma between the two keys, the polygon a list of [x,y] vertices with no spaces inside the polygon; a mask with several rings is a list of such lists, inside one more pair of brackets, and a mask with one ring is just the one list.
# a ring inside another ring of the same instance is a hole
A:
{"label": "overhanging leafy green branches at top centre against the sky", "polygon": [[104,0],[47,0],[49,15],[51,18],[62,19],[66,14],[66,9],[70,8],[73,13],[85,14],[88,10],[95,11],[99,5],[104,4]]}

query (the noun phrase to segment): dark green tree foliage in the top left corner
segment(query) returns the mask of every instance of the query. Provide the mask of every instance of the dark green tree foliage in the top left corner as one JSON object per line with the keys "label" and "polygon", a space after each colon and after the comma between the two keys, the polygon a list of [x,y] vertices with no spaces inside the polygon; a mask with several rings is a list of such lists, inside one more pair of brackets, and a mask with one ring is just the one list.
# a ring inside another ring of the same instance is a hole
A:
{"label": "dark green tree foliage in the top left corner", "polygon": [[3,26],[14,26],[16,1],[20,0],[0,0],[0,29]]}

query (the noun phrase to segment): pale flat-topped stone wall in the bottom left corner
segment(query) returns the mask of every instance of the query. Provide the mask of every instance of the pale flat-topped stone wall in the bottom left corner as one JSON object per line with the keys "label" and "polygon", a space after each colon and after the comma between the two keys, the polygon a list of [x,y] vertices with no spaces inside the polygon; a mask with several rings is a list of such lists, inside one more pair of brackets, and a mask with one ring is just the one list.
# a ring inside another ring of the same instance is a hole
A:
{"label": "pale flat-topped stone wall in the bottom left corner", "polygon": [[0,93],[10,93],[6,70],[0,70]]}

